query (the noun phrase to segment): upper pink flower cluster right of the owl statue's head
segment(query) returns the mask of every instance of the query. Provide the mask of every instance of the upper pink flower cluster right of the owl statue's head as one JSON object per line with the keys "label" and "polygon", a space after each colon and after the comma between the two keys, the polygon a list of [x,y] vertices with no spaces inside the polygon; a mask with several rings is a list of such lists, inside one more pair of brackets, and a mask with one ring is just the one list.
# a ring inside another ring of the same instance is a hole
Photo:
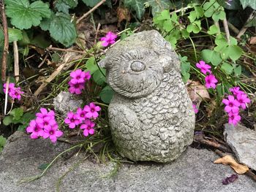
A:
{"label": "upper pink flower cluster right of the owl statue's head", "polygon": [[199,61],[199,63],[196,64],[197,68],[200,69],[200,71],[203,74],[209,73],[205,80],[206,80],[206,88],[216,88],[218,80],[214,76],[214,74],[211,73],[211,66],[206,64],[205,61]]}

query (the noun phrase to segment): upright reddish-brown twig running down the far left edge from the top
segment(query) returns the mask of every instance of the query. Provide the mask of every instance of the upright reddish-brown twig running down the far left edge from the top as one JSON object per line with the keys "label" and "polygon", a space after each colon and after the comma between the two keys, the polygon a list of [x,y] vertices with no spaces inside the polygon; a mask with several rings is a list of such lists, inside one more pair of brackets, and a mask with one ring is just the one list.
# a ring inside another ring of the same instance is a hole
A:
{"label": "upright reddish-brown twig running down the far left edge from the top", "polygon": [[9,37],[8,37],[8,24],[7,24],[7,17],[5,15],[4,10],[4,0],[0,0],[0,6],[1,6],[1,20],[3,23],[3,29],[4,29],[4,50],[3,55],[1,58],[1,81],[5,82],[6,80],[6,71],[7,71],[7,55],[9,50]]}

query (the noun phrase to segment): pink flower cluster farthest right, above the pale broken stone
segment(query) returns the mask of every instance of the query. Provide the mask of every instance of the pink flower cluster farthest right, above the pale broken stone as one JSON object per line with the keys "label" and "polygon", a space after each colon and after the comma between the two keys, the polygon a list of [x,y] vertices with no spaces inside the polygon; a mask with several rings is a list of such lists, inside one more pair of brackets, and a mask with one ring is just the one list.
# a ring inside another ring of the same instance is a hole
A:
{"label": "pink flower cluster farthest right, above the pale broken stone", "polygon": [[250,99],[239,87],[230,88],[230,92],[233,93],[233,95],[227,96],[227,99],[223,99],[222,103],[226,105],[224,110],[228,114],[228,123],[236,126],[241,120],[239,107],[245,110],[246,104],[250,103]]}

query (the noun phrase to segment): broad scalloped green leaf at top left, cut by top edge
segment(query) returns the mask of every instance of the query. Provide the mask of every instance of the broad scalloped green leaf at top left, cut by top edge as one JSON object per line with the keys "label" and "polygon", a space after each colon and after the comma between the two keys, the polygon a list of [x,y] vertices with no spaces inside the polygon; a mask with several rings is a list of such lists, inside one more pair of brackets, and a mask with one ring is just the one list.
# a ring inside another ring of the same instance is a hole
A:
{"label": "broad scalloped green leaf at top left, cut by top edge", "polygon": [[5,4],[12,25],[20,29],[39,26],[42,18],[50,18],[49,6],[42,1],[29,4],[29,0],[6,0]]}

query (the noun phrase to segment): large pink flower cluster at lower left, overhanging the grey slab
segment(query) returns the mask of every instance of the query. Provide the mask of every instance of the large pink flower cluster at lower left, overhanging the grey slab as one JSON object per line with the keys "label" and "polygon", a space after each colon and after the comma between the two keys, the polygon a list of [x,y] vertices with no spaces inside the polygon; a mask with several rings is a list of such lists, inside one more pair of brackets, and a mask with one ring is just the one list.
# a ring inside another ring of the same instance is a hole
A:
{"label": "large pink flower cluster at lower left, overhanging the grey slab", "polygon": [[59,130],[53,110],[48,112],[45,108],[41,108],[36,116],[37,118],[31,120],[29,126],[26,128],[26,131],[31,133],[31,139],[38,139],[39,137],[43,137],[44,139],[50,138],[51,142],[55,143],[63,132]]}

